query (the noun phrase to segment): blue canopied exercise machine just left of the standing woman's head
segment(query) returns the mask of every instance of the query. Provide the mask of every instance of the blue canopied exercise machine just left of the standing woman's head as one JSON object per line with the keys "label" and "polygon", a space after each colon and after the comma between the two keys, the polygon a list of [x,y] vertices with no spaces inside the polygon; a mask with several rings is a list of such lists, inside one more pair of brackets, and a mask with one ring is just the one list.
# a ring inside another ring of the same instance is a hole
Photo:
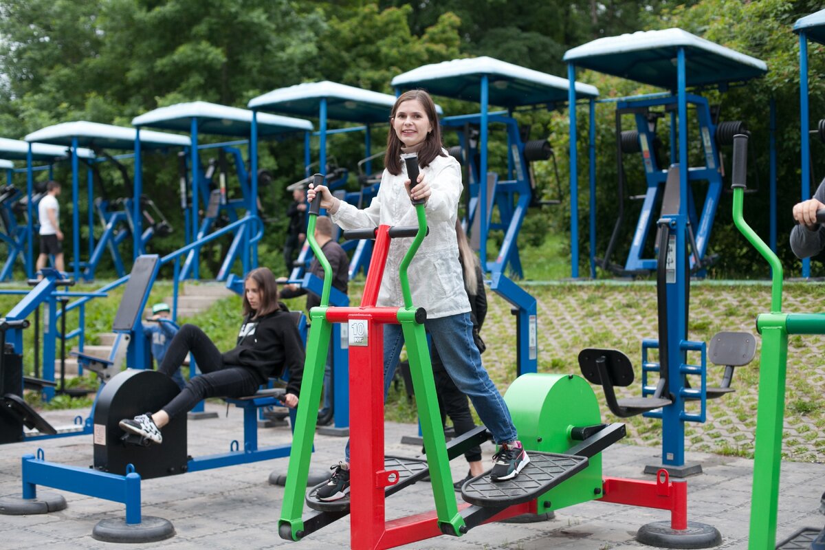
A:
{"label": "blue canopied exercise machine just left of the standing woman's head", "polygon": [[[318,131],[312,134],[318,136],[318,166],[328,166],[328,137],[336,134],[364,132],[365,158],[359,162],[359,190],[347,191],[342,189],[347,183],[347,172],[327,171],[325,181],[333,193],[341,200],[362,207],[378,193],[380,178],[373,176],[372,161],[376,155],[372,154],[371,131],[372,125],[385,125],[389,120],[389,113],[393,108],[395,98],[389,94],[371,92],[357,87],[338,84],[337,82],[307,82],[291,87],[280,88],[257,96],[249,101],[248,107],[260,116],[259,111],[279,112],[288,115],[306,116],[318,119]],[[328,121],[334,120],[344,125],[341,128],[331,129]],[[309,170],[314,166],[310,154],[310,134],[304,141],[304,166],[307,169],[307,178],[297,182],[297,185],[308,185],[312,181]],[[252,148],[253,151],[256,148]],[[253,157],[254,158],[254,157]],[[323,171],[322,171],[323,172]],[[361,241],[342,242],[345,251],[351,252],[350,279],[354,279],[360,271],[366,273],[370,265],[373,242],[369,239]],[[313,254],[309,248],[309,239],[296,261],[296,267],[290,273],[290,283],[300,284],[309,292],[321,295],[323,280],[307,272]],[[347,295],[332,289],[330,305],[345,307],[349,305]],[[326,435],[349,434],[349,383],[348,383],[348,343],[347,326],[336,324],[332,327],[332,426],[319,426],[319,433]]]}

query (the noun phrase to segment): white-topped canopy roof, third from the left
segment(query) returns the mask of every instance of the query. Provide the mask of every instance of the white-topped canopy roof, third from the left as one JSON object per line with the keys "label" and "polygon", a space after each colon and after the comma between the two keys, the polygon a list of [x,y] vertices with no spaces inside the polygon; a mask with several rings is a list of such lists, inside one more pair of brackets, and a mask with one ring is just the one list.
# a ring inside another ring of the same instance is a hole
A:
{"label": "white-topped canopy roof, third from the left", "polygon": [[[160,107],[132,119],[132,125],[152,128],[191,131],[191,120],[199,119],[198,132],[203,134],[249,135],[252,129],[252,111],[209,103],[192,101]],[[285,132],[310,132],[313,125],[309,120],[294,119],[281,115],[257,115],[258,134],[271,135]],[[143,131],[141,131],[141,135]]]}

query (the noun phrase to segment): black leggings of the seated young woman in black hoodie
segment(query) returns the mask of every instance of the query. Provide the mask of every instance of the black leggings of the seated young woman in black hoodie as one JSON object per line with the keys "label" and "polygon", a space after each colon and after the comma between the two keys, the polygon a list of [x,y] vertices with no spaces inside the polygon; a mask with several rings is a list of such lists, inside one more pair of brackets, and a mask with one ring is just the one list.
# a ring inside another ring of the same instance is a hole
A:
{"label": "black leggings of the seated young woman in black hoodie", "polygon": [[265,382],[252,369],[224,364],[223,355],[209,336],[190,324],[181,327],[169,342],[169,349],[158,370],[172,377],[190,352],[201,374],[191,378],[181,393],[163,407],[170,419],[191,411],[206,397],[246,397],[257,392],[258,386]]}

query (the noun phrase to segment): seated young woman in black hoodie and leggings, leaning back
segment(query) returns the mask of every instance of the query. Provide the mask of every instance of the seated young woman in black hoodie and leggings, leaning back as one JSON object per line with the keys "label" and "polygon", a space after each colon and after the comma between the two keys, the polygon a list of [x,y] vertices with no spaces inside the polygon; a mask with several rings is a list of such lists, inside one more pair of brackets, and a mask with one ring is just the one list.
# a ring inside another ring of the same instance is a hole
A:
{"label": "seated young woman in black hoodie and leggings, leaning back", "polygon": [[209,336],[195,325],[186,324],[169,344],[158,370],[172,376],[190,352],[202,374],[191,378],[181,393],[154,413],[120,421],[120,428],[162,443],[161,429],[172,418],[186,414],[206,397],[246,397],[271,376],[290,371],[285,405],[298,406],[304,371],[304,344],[295,319],[278,302],[275,275],[266,267],[248,273],[243,283],[243,325],[236,346],[221,353]]}

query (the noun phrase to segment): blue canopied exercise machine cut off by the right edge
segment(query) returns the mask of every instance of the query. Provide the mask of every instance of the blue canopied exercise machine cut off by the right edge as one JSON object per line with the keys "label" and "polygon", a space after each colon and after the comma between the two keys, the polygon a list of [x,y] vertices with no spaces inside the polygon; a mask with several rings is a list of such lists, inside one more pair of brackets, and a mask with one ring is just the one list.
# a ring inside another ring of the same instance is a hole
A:
{"label": "blue canopied exercise machine cut off by the right edge", "polygon": [[[799,152],[802,155],[802,198],[811,198],[811,185],[815,187],[817,182],[813,180],[811,170],[811,150],[810,134],[817,134],[825,141],[825,120],[819,120],[817,128],[810,129],[810,111],[808,108],[808,41],[818,44],[825,44],[825,10],[812,13],[796,20],[794,32],[799,35]],[[771,204],[774,201],[771,200]],[[771,246],[775,251],[775,247]],[[807,279],[811,276],[810,258],[802,261],[802,276]]]}

